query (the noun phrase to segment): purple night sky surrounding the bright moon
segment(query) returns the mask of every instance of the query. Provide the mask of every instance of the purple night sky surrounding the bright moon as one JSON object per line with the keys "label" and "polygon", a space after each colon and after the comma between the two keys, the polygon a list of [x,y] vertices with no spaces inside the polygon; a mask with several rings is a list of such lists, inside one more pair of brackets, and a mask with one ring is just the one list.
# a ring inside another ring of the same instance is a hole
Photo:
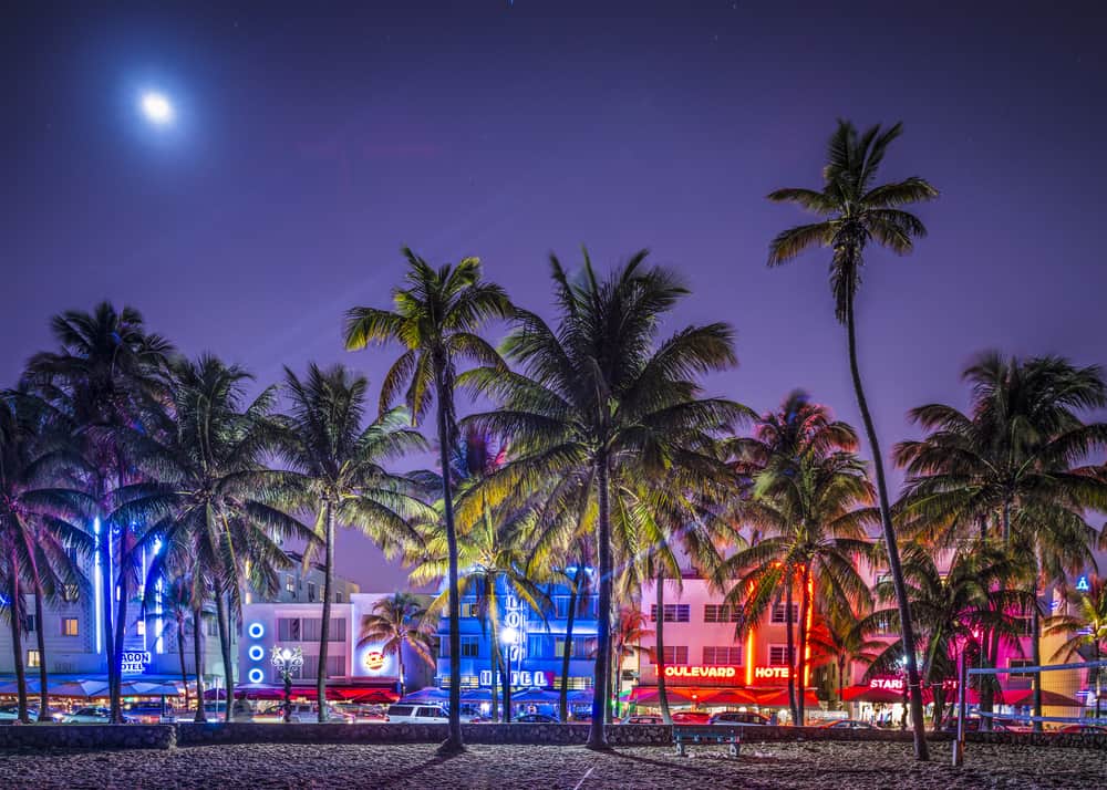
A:
{"label": "purple night sky surrounding the bright moon", "polygon": [[[679,268],[694,295],[672,328],[736,326],[713,393],[764,410],[803,386],[858,423],[827,254],[765,267],[805,217],[764,196],[818,186],[837,117],[902,119],[886,179],[942,193],[913,256],[868,256],[886,448],[908,408],[964,405],[983,349],[1107,364],[1101,3],[348,6],[6,9],[0,385],[51,344],[50,315],[106,298],[261,383],[342,361],[375,391],[396,350],[345,353],[341,318],[387,304],[401,245],[480,256],[548,314],[548,253],[587,243],[604,267],[649,247]],[[151,89],[173,126],[138,114]],[[363,589],[404,584],[340,541]]]}

